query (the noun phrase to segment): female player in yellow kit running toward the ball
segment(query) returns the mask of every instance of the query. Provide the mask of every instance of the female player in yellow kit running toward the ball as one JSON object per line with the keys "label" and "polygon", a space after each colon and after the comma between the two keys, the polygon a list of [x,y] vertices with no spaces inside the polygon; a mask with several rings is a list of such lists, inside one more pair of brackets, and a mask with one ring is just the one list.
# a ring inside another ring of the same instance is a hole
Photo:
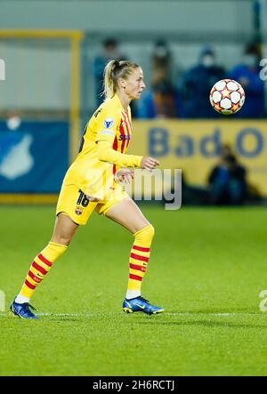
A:
{"label": "female player in yellow kit running toward the ball", "polygon": [[66,252],[78,226],[86,223],[94,209],[134,236],[123,310],[149,315],[164,311],[141,296],[154,228],[117,181],[128,182],[134,177],[129,168],[152,171],[159,164],[153,157],[125,154],[131,139],[129,104],[140,98],[144,88],[142,68],[137,64],[109,61],[104,71],[106,100],[85,127],[79,154],[62,183],[53,237],[36,255],[20,293],[14,298],[10,306],[14,315],[37,318],[29,304],[36,285],[42,282],[53,262]]}

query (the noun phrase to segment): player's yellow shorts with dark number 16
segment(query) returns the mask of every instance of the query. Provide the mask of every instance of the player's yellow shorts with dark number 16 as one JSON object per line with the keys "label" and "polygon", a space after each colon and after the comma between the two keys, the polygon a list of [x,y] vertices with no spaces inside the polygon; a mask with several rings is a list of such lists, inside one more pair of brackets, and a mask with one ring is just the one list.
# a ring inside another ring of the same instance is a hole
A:
{"label": "player's yellow shorts with dark number 16", "polygon": [[119,183],[110,189],[105,200],[89,201],[85,193],[75,184],[62,184],[61,193],[56,207],[56,214],[67,213],[72,221],[77,224],[86,224],[89,216],[95,210],[99,214],[106,214],[109,209],[124,200],[131,198]]}

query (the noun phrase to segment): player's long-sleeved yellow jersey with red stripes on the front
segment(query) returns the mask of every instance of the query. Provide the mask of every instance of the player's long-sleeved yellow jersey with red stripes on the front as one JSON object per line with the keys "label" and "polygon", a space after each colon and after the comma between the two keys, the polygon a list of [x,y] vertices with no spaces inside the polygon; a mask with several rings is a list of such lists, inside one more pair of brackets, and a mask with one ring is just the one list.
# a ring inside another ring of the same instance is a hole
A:
{"label": "player's long-sleeved yellow jersey with red stripes on the front", "polygon": [[[85,127],[79,154],[64,183],[76,184],[87,196],[104,199],[114,186],[114,175],[120,166],[141,164],[142,157],[125,155],[131,134],[130,107],[125,111],[117,95],[104,101]],[[111,149],[114,155],[109,155],[106,161],[105,155],[100,155],[99,141],[107,141],[114,149]]]}

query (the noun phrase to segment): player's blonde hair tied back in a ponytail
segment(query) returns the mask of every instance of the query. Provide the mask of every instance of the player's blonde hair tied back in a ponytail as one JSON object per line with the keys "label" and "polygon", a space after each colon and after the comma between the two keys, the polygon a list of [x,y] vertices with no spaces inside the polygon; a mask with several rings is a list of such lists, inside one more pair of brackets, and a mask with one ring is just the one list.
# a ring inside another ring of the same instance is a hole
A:
{"label": "player's blonde hair tied back in a ponytail", "polygon": [[102,94],[106,99],[110,99],[117,92],[117,79],[127,77],[132,73],[133,68],[139,68],[138,64],[127,60],[110,60],[104,70],[104,83]]}

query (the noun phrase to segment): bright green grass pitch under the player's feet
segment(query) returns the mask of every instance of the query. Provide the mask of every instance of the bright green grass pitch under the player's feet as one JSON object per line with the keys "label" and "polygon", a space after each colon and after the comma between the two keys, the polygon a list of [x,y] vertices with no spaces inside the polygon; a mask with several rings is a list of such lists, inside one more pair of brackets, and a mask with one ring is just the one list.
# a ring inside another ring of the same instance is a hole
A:
{"label": "bright green grass pitch under the player's feet", "polygon": [[133,237],[93,213],[36,290],[41,318],[27,321],[7,310],[54,207],[0,208],[0,375],[266,375],[266,208],[142,211],[156,229],[142,294],[164,314],[122,312]]}

